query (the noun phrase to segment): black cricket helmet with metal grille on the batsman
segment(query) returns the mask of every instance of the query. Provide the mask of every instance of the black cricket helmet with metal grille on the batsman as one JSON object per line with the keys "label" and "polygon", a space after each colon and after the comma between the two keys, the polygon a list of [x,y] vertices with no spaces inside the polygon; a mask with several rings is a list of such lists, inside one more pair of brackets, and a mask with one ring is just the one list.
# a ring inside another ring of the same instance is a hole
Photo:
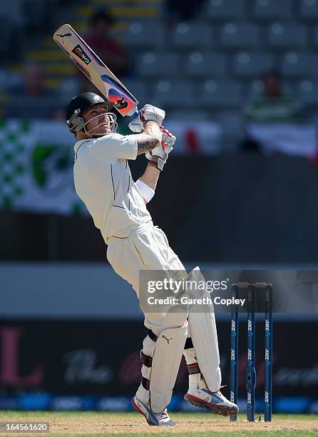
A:
{"label": "black cricket helmet with metal grille on the batsman", "polygon": [[[83,120],[83,112],[87,109],[92,108],[97,105],[105,105],[106,112],[110,112],[113,109],[114,103],[112,101],[104,100],[103,97],[98,96],[95,93],[82,93],[78,94],[78,96],[73,97],[71,102],[68,104],[66,109],[66,123],[68,125],[68,129],[72,132],[72,134],[76,135],[76,132],[82,131],[85,132],[85,121]],[[116,122],[116,115],[112,114],[114,117],[114,122]]]}

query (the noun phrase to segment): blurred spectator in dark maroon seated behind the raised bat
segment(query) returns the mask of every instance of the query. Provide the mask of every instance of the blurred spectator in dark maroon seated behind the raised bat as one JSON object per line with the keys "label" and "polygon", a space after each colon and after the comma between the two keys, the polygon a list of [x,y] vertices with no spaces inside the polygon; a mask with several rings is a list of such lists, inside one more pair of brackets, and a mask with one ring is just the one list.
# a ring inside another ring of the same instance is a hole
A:
{"label": "blurred spectator in dark maroon seated behind the raised bat", "polygon": [[[113,21],[107,11],[97,11],[91,18],[91,30],[85,39],[113,74],[121,79],[129,73],[129,63],[125,49],[109,33]],[[96,88],[87,79],[81,90],[96,92]]]}

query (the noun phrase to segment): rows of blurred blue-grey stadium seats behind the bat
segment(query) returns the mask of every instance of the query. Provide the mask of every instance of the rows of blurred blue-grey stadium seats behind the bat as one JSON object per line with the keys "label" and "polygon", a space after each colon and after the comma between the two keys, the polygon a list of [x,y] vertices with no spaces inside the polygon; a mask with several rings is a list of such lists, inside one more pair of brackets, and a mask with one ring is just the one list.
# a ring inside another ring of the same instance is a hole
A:
{"label": "rows of blurred blue-grey stadium seats behind the bat", "polygon": [[[23,29],[41,28],[56,1],[44,8],[43,1],[23,0]],[[200,119],[216,116],[222,125],[230,123],[227,136],[234,138],[242,104],[260,91],[260,75],[277,69],[284,88],[318,111],[318,0],[207,0],[193,20],[176,24],[166,15],[164,0],[78,0],[62,4],[63,14],[56,8],[50,20],[58,26],[61,16],[69,17],[85,36],[91,14],[105,4],[116,18],[112,34],[127,46],[133,64],[128,79],[120,79],[140,102],[154,101],[173,114],[196,109]],[[10,21],[2,20],[4,58],[14,32]],[[21,61],[44,66],[49,91],[65,99],[76,91],[70,85],[73,68],[53,44],[51,28],[25,41]],[[14,68],[21,71],[21,65]]]}

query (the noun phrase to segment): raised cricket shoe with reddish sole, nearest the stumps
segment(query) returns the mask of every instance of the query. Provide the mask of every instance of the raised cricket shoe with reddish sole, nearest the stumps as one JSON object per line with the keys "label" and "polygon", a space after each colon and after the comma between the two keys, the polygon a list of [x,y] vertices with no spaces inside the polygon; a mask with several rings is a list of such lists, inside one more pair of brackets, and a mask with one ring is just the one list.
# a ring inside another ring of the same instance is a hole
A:
{"label": "raised cricket shoe with reddish sole, nearest the stumps", "polygon": [[185,401],[200,408],[209,408],[212,413],[221,416],[232,416],[239,411],[236,403],[228,401],[220,390],[212,392],[207,388],[189,388],[185,393]]}

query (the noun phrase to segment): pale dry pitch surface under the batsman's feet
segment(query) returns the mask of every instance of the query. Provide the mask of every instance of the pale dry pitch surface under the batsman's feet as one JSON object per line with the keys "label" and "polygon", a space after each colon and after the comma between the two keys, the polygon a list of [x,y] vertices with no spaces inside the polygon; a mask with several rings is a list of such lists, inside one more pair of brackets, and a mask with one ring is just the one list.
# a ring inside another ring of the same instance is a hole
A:
{"label": "pale dry pitch surface under the batsman's feet", "polygon": [[[318,434],[317,415],[274,415],[272,423],[247,423],[244,415],[236,423],[211,413],[170,413],[177,423],[172,428],[148,426],[138,413],[98,412],[22,412],[1,411],[0,422],[45,421],[50,424],[50,433],[43,436],[314,436]],[[14,433],[4,434],[12,436]],[[19,433],[19,436],[36,435]],[[39,435],[39,434],[37,434]]]}

